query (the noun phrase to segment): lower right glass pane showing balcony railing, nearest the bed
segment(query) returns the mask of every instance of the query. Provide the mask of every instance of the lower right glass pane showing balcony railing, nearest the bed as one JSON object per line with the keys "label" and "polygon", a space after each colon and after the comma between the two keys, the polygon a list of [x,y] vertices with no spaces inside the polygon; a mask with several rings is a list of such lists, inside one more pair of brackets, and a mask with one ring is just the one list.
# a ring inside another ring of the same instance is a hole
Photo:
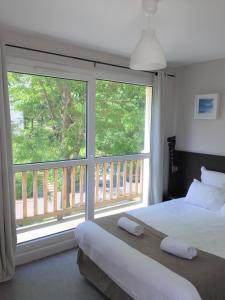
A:
{"label": "lower right glass pane showing balcony railing, nearest the bed", "polygon": [[142,207],[144,160],[95,166],[95,217]]}

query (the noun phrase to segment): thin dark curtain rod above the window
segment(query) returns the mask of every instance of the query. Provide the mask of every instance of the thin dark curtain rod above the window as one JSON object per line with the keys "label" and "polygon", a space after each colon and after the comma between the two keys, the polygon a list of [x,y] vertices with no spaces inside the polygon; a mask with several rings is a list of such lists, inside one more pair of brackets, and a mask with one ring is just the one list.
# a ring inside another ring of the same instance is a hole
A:
{"label": "thin dark curtain rod above the window", "polygon": [[[51,54],[51,55],[56,55],[56,56],[60,56],[60,57],[81,60],[81,61],[85,61],[85,62],[91,62],[94,65],[99,64],[99,65],[105,65],[105,66],[110,66],[110,67],[117,67],[117,68],[131,70],[129,67],[125,67],[125,66],[121,66],[121,65],[115,65],[115,64],[110,64],[110,63],[106,63],[106,62],[103,62],[103,61],[92,60],[92,59],[88,59],[88,58],[82,58],[82,57],[78,57],[78,56],[71,56],[71,55],[66,55],[66,54],[59,54],[59,53],[55,53],[55,52],[50,52],[50,51],[45,51],[45,50],[39,50],[39,49],[33,49],[33,48],[29,48],[29,47],[17,46],[17,45],[12,45],[12,44],[6,44],[6,46],[7,47],[11,47],[11,48],[17,48],[17,49],[22,49],[22,50],[29,50],[29,51],[34,51],[34,52],[39,52],[39,53],[44,53],[44,54]],[[144,72],[153,74],[155,76],[158,75],[158,72],[150,72],[150,71],[144,71]],[[174,78],[176,77],[173,74],[166,74],[166,75],[168,77],[174,77]]]}

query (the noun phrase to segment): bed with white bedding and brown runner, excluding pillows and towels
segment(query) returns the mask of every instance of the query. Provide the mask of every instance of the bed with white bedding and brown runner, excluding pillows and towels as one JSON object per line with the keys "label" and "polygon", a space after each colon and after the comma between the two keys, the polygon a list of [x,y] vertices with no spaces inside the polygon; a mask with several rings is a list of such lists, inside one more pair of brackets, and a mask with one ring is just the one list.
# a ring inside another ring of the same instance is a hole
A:
{"label": "bed with white bedding and brown runner, excluding pillows and towels", "polygon": [[[225,299],[224,215],[183,197],[126,216],[143,224],[152,239],[121,233],[116,226],[121,215],[87,221],[75,232],[80,272],[103,294],[113,300]],[[198,257],[183,260],[159,246],[149,255],[165,236],[196,247]]]}

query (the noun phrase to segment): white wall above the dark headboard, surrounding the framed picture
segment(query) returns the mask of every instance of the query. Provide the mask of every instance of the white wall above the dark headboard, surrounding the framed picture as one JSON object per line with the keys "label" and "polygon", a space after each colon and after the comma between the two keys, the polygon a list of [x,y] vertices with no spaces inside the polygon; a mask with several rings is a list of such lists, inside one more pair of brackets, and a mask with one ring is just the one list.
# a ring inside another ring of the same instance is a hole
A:
{"label": "white wall above the dark headboard, surrounding the framed picture", "polygon": [[[225,155],[225,59],[176,70],[177,149]],[[194,120],[195,95],[220,94],[217,120]]]}

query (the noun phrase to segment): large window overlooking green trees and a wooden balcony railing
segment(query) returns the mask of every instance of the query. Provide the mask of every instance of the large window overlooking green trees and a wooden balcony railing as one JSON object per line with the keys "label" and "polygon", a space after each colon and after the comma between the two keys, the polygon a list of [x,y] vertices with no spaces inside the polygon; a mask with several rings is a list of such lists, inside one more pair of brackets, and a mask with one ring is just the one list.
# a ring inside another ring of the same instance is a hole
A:
{"label": "large window overlooking green trees and a wooden balcony railing", "polygon": [[8,72],[18,242],[142,206],[150,159],[147,80],[100,80],[98,72],[22,63]]}

